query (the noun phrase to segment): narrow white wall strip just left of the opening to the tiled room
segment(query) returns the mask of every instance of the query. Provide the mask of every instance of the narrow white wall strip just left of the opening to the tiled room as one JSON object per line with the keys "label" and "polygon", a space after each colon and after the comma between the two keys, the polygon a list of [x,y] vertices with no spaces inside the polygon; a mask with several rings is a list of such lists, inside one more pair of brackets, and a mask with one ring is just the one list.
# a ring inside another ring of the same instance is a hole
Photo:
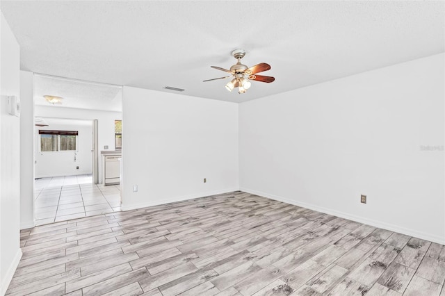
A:
{"label": "narrow white wall strip just left of the opening to the tiled room", "polygon": [[34,227],[33,73],[20,71],[20,229]]}

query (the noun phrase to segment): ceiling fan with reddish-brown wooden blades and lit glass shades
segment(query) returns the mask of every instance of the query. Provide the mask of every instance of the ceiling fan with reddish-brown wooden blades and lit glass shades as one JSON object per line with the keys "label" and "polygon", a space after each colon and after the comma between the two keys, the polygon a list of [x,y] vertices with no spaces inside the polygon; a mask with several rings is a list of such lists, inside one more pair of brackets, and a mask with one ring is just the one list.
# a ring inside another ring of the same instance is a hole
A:
{"label": "ceiling fan with reddish-brown wooden blades and lit glass shades", "polygon": [[246,65],[241,64],[241,58],[245,56],[245,51],[243,49],[235,49],[234,51],[232,51],[232,56],[234,56],[234,58],[236,58],[238,62],[236,62],[236,64],[233,65],[232,67],[230,67],[229,70],[221,67],[210,66],[213,69],[218,69],[230,73],[232,74],[232,76],[224,76],[215,79],[208,79],[204,80],[203,82],[233,77],[232,81],[230,81],[225,85],[225,88],[229,92],[232,92],[234,88],[238,88],[238,94],[243,94],[246,92],[246,90],[248,90],[248,88],[250,88],[251,80],[261,81],[266,83],[275,81],[275,78],[273,78],[272,76],[257,75],[257,73],[270,70],[270,65],[266,63],[259,63],[258,65],[248,67]]}

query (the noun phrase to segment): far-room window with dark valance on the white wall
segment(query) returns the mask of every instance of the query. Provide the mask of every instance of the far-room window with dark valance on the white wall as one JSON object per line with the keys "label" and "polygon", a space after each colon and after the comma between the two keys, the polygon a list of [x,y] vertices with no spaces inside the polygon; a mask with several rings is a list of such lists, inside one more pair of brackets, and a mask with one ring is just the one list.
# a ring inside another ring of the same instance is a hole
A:
{"label": "far-room window with dark valance on the white wall", "polygon": [[40,151],[76,151],[78,131],[39,130]]}

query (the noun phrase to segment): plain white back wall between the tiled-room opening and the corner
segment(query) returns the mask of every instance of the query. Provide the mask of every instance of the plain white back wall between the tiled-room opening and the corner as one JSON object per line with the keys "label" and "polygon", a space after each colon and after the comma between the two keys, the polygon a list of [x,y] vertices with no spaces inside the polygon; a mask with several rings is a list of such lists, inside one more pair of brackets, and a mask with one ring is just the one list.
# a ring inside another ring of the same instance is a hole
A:
{"label": "plain white back wall between the tiled-room opening and the corner", "polygon": [[130,87],[122,102],[124,210],[238,190],[237,104]]}

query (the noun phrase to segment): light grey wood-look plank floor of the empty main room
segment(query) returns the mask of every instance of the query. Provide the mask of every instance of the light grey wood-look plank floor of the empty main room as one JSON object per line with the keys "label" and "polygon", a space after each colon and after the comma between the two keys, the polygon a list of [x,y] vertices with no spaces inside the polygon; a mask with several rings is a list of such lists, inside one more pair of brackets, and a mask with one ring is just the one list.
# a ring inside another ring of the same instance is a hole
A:
{"label": "light grey wood-look plank floor of the empty main room", "polygon": [[10,295],[441,295],[445,247],[244,192],[21,233]]}

